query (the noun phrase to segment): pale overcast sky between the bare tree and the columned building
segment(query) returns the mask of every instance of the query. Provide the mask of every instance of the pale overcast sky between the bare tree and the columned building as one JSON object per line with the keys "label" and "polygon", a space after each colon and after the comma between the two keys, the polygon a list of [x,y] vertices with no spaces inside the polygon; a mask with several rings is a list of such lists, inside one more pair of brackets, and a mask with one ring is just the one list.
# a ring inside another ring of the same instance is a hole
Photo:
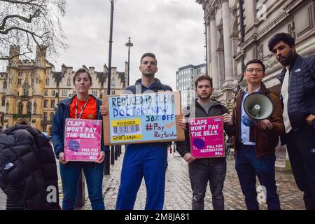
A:
{"label": "pale overcast sky between the bare tree and the columned building", "polygon": [[[103,71],[109,63],[109,0],[67,0],[62,27],[69,48],[55,64],[83,64]],[[144,52],[155,53],[162,83],[176,87],[176,71],[188,64],[204,63],[204,12],[195,0],[117,0],[113,14],[112,66],[124,71],[125,43],[131,37],[130,84],[141,77],[139,60]]]}

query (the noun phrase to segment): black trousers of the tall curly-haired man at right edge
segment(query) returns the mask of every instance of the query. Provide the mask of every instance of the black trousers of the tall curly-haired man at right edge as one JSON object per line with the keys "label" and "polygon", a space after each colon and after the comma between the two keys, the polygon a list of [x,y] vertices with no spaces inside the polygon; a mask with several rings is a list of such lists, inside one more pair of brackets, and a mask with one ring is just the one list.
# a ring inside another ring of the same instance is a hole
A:
{"label": "black trousers of the tall curly-haired man at right edge", "polygon": [[315,210],[315,128],[304,125],[286,134],[286,147],[297,187],[307,210]]}

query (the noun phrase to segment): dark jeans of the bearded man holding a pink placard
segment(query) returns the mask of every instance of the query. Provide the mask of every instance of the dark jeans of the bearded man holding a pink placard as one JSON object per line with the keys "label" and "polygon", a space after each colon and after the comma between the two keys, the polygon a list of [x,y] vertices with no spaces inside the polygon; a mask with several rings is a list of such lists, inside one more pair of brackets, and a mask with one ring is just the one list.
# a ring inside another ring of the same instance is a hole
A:
{"label": "dark jeans of the bearded man holding a pink placard", "polygon": [[223,184],[226,174],[226,160],[216,162],[210,159],[208,164],[193,162],[189,164],[189,178],[193,190],[192,209],[204,210],[204,196],[208,181],[214,210],[224,210]]}

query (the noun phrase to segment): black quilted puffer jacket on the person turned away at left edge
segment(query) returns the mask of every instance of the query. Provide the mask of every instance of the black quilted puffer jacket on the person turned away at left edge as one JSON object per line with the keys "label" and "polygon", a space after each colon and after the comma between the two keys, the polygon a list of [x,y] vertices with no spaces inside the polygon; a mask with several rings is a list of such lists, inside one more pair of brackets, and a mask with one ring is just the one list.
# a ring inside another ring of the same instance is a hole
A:
{"label": "black quilted puffer jacket on the person turned away at left edge", "polygon": [[0,188],[25,209],[58,209],[55,156],[46,137],[28,125],[0,134]]}

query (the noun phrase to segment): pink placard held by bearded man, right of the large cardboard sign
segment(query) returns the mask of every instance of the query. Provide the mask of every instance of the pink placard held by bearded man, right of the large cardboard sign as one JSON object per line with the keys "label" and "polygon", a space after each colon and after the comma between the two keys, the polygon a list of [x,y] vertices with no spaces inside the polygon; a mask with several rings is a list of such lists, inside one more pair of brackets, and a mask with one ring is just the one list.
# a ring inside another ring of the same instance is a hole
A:
{"label": "pink placard held by bearded man, right of the large cardboard sign", "polygon": [[195,158],[225,156],[222,117],[189,120],[190,151]]}

